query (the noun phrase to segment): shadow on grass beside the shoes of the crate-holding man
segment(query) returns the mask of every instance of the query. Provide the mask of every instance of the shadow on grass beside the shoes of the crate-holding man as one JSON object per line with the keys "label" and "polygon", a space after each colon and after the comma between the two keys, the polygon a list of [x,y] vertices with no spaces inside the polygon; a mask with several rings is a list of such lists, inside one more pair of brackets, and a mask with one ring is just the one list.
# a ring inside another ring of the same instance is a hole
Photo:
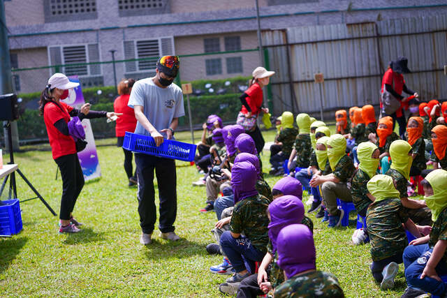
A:
{"label": "shadow on grass beside the shoes of the crate-holding man", "polygon": [[152,239],[151,244],[146,246],[145,255],[149,260],[160,258],[187,258],[191,255],[204,255],[205,246],[193,241],[180,238],[178,241],[164,241]]}

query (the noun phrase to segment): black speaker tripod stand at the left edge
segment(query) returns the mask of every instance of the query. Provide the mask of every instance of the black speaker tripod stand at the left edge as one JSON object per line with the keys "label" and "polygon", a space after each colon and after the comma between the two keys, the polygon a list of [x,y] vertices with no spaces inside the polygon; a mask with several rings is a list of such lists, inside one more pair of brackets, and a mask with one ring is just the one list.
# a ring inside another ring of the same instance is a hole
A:
{"label": "black speaker tripod stand at the left edge", "polygon": [[[10,121],[6,122],[5,125],[6,130],[8,131],[8,150],[9,150],[9,158],[10,158],[10,165],[14,164],[14,151],[13,151],[13,140],[11,140],[12,134],[11,134],[11,125],[10,125]],[[22,200],[20,202],[27,202],[29,200],[35,200],[35,199],[40,199],[41,202],[45,205],[45,207],[47,207],[48,210],[50,210],[50,212],[52,213],[52,215],[56,216],[57,214],[54,212],[54,210],[50,207],[50,205],[45,202],[45,200],[43,200],[42,195],[36,190],[36,188],[34,188],[33,184],[31,184],[31,182],[29,182],[29,180],[27,179],[27,177],[25,177],[25,175],[22,173],[22,171],[20,171],[20,169],[17,167],[17,170],[15,170],[17,172],[17,174],[20,175],[20,177],[22,177],[23,181],[25,181],[26,184],[28,184],[29,188],[31,188],[31,191],[34,191],[34,193],[36,194],[36,197],[34,198],[29,198],[27,200]],[[10,189],[9,189],[9,195],[8,197],[11,198],[11,191],[13,191],[14,197],[13,198],[17,198],[17,186],[15,185],[15,172],[11,172],[10,174],[6,175],[5,179],[3,179],[3,182],[1,184],[0,187],[0,196],[1,193],[3,193],[3,190],[6,186],[6,183],[8,182],[8,177],[10,177]],[[1,204],[1,201],[0,201]]]}

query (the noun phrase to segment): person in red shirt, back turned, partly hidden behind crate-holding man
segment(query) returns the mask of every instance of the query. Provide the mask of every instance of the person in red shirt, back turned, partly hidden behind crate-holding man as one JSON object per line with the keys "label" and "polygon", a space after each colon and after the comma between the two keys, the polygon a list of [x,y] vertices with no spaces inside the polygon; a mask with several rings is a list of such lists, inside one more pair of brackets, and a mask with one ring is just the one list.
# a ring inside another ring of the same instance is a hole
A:
{"label": "person in red shirt, back turned, partly hidden behind crate-holding man", "polygon": [[[131,96],[131,90],[135,80],[127,79],[122,80],[118,84],[118,94],[119,96],[115,99],[113,103],[113,110],[117,113],[122,113],[122,116],[117,119],[117,124],[115,126],[115,132],[117,135],[117,146],[122,147],[124,142],[124,135],[126,131],[133,133],[135,127],[137,126],[137,119],[135,118],[135,112],[131,107],[127,105],[129,103],[129,97]],[[136,172],[133,173],[132,167],[132,151],[124,151],[124,170],[126,171],[127,178],[129,179],[129,186],[137,184]]]}

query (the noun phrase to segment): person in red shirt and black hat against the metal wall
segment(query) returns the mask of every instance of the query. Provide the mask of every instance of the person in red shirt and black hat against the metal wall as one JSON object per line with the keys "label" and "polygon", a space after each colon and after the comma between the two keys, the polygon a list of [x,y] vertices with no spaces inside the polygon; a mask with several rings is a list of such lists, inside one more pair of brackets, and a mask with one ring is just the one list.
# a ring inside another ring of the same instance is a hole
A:
{"label": "person in red shirt and black hat against the metal wall", "polygon": [[400,101],[400,107],[396,112],[389,115],[383,113],[383,116],[390,116],[393,118],[393,129],[397,120],[397,124],[399,124],[399,135],[403,140],[404,133],[406,131],[404,110],[408,110],[408,98],[404,98],[404,96],[402,96],[402,91],[406,94],[413,95],[416,98],[418,97],[416,92],[411,91],[408,87],[406,87],[404,75],[402,75],[402,73],[411,73],[407,64],[408,59],[405,57],[399,57],[396,61],[391,61],[385,75],[383,75],[381,89],[382,92],[383,90],[388,91]]}

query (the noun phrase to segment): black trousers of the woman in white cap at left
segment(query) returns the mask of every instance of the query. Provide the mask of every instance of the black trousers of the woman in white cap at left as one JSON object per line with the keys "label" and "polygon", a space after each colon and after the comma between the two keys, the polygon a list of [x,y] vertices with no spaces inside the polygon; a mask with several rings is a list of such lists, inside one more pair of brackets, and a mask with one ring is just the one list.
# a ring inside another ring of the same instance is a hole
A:
{"label": "black trousers of the woman in white cap at left", "polygon": [[82,174],[78,154],[68,154],[54,160],[61,171],[62,198],[59,218],[63,221],[70,219],[75,209],[76,200],[84,187],[84,174]]}

